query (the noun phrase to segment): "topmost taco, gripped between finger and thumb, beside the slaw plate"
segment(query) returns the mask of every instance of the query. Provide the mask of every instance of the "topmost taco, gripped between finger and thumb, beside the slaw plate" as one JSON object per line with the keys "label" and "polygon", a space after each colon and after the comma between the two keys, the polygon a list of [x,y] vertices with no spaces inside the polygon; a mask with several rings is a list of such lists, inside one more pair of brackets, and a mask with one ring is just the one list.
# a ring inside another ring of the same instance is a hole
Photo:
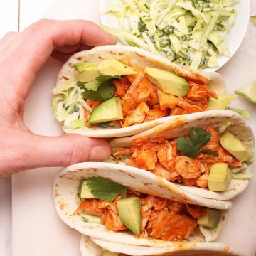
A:
{"label": "topmost taco, gripped between finger and thumb, beside the slaw plate", "polygon": [[60,70],[53,112],[66,133],[87,137],[137,134],[181,114],[224,109],[218,73],[191,70],[129,46],[75,53]]}

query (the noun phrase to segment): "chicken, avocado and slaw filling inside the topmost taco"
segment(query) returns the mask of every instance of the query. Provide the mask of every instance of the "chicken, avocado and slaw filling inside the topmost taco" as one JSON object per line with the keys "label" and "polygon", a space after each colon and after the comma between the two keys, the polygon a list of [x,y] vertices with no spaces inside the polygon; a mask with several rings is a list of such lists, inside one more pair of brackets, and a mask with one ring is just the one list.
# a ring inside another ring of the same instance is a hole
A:
{"label": "chicken, avocado and slaw filling inside the topmost taco", "polygon": [[215,109],[216,102],[217,108],[220,105],[218,96],[208,89],[208,78],[184,67],[176,66],[175,72],[141,70],[110,59],[77,63],[73,70],[76,80],[53,90],[55,117],[66,128],[129,127]]}

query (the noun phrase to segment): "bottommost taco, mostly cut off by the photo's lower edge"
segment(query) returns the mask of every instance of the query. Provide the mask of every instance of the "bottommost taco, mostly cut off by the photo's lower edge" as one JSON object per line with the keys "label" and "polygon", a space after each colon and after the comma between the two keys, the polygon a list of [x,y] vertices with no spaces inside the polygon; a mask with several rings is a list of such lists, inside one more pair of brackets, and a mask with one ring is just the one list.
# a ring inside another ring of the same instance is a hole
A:
{"label": "bottommost taco, mostly cut off by the photo's lower edge", "polygon": [[228,245],[217,242],[181,243],[169,247],[146,247],[123,245],[81,235],[81,256],[129,256],[129,255],[169,255],[169,256],[242,256]]}

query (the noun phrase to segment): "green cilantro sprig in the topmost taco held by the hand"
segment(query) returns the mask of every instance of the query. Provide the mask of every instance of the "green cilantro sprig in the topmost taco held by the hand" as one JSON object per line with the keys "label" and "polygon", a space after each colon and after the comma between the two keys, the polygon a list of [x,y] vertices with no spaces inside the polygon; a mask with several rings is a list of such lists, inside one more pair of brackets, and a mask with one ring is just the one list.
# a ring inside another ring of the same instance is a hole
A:
{"label": "green cilantro sprig in the topmost taco held by the hand", "polygon": [[82,97],[89,100],[108,100],[114,95],[113,79],[121,79],[120,75],[99,75],[94,82],[77,81],[82,90]]}

